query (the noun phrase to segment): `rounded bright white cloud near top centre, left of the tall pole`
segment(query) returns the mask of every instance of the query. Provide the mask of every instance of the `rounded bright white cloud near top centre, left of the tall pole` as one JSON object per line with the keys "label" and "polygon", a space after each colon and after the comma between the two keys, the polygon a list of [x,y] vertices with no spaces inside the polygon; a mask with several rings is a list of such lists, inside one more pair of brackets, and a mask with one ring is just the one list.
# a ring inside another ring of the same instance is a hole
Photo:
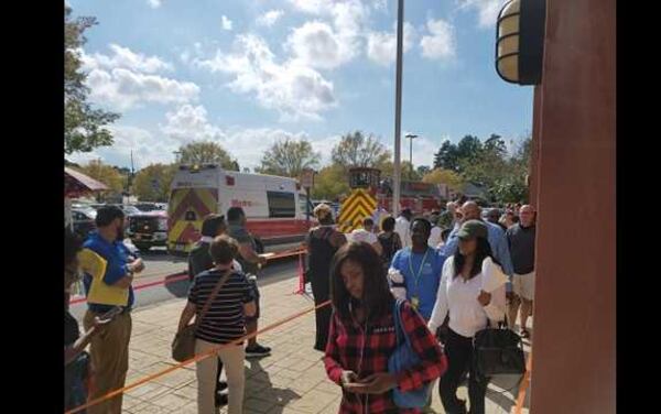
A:
{"label": "rounded bright white cloud near top centre, left of the tall pole", "polygon": [[304,65],[330,69],[354,57],[347,42],[328,24],[312,21],[294,29],[285,47]]}

